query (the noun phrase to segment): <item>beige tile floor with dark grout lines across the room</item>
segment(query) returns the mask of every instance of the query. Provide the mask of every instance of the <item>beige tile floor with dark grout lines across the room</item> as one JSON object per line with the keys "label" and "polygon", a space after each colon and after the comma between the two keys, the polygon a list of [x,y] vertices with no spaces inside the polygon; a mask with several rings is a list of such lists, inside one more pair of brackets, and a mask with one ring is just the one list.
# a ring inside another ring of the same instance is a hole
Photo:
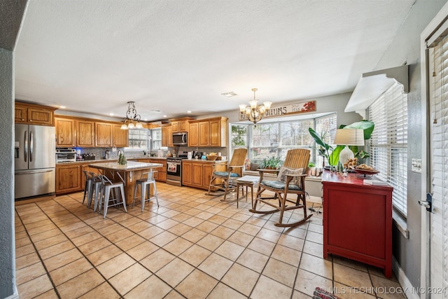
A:
{"label": "beige tile floor with dark grout lines across the room", "polygon": [[378,268],[322,258],[318,204],[304,225],[277,228],[277,214],[252,214],[250,200],[237,209],[205,193],[158,183],[160,207],[113,207],[106,219],[83,193],[17,205],[20,298],[311,298],[316,286],[339,298],[405,298]]}

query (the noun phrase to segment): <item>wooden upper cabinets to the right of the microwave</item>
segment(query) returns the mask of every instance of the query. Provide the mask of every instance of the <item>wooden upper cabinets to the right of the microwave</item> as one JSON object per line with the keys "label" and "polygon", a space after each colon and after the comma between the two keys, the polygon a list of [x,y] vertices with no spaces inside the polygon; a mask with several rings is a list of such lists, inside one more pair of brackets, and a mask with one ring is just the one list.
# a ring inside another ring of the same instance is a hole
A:
{"label": "wooden upper cabinets to the right of the microwave", "polygon": [[191,120],[188,127],[188,146],[227,146],[228,118]]}

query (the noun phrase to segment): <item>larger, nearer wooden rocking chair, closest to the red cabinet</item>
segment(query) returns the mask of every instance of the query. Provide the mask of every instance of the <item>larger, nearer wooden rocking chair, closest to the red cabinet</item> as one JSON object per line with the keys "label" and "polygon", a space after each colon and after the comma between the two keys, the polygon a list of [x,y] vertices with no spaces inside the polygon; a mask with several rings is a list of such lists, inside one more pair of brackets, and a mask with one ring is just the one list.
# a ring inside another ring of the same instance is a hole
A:
{"label": "larger, nearer wooden rocking chair, closest to the red cabinet", "polygon": [[[297,148],[289,150],[286,153],[286,160],[279,169],[279,174],[276,181],[263,180],[263,173],[266,172],[265,169],[259,169],[260,172],[260,183],[258,184],[258,191],[255,201],[253,202],[252,209],[249,211],[253,213],[269,214],[276,211],[280,211],[279,222],[275,223],[276,226],[290,227],[295,225],[300,225],[307,221],[312,215],[307,216],[307,202],[304,189],[304,179],[309,163],[309,150],[303,148]],[[272,171],[269,169],[269,171]],[[272,196],[262,196],[265,191],[270,191],[274,193]],[[297,195],[297,200],[291,200],[288,195]],[[302,201],[302,203],[300,203]],[[270,210],[257,210],[257,203],[267,204],[275,209]],[[293,205],[288,205],[288,203],[293,203]],[[300,221],[295,221],[291,223],[283,223],[283,213],[284,211],[289,211],[292,209],[303,209],[304,217]]]}

